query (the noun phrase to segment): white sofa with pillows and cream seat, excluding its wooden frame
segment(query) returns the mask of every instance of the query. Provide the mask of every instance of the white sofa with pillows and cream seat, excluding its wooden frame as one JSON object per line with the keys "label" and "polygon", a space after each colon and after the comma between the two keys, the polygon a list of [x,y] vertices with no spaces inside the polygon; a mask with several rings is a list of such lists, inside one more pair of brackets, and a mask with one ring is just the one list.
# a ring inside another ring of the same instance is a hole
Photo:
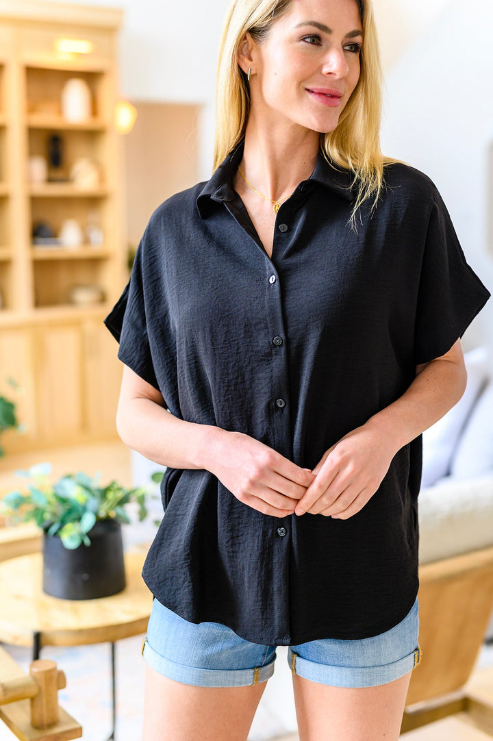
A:
{"label": "white sofa with pillows and cream seat, excluding its wooden frame", "polygon": [[423,434],[420,565],[493,545],[492,353],[471,350],[466,368],[462,399]]}

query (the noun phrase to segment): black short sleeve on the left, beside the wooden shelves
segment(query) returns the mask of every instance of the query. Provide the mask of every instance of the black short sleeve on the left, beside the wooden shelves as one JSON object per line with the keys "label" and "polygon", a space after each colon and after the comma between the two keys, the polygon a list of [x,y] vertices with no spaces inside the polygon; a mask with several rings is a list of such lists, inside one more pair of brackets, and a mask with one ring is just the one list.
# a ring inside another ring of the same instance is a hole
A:
{"label": "black short sleeve on the left, beside the wooden shelves", "polygon": [[148,336],[145,289],[142,281],[142,260],[145,236],[136,251],[130,281],[113,310],[107,315],[105,325],[119,342],[118,357],[138,376],[159,388],[153,368]]}

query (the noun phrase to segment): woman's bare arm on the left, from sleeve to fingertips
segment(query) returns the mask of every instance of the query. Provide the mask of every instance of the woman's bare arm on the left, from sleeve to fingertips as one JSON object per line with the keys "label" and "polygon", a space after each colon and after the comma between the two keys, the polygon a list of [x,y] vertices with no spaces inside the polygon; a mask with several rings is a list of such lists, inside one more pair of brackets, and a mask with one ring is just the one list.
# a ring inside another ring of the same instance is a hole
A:
{"label": "woman's bare arm on the left, from sleeve to fingertips", "polygon": [[311,471],[248,435],[177,419],[159,391],[127,366],[116,428],[129,448],[160,465],[211,471],[236,499],[263,514],[293,514],[314,480]]}

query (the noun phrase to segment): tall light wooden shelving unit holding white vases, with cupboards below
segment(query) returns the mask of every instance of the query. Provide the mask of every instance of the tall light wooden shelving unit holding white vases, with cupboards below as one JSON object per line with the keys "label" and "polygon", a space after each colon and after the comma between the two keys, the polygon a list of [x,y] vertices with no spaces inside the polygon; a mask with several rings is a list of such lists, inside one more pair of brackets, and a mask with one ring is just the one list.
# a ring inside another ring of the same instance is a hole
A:
{"label": "tall light wooden shelving unit holding white vases, with cupboards below", "polygon": [[[84,442],[115,434],[119,387],[116,345],[102,325],[125,285],[120,142],[114,123],[116,42],[122,12],[109,8],[0,0],[0,393],[12,377],[27,428],[10,435],[7,451]],[[84,40],[84,53],[60,50],[60,40]],[[62,90],[71,78],[90,89],[92,115],[68,122]],[[30,158],[62,142],[56,182],[30,182]],[[99,184],[70,179],[89,159]],[[60,179],[59,176],[62,176]],[[33,244],[40,222],[59,236],[75,219],[85,244]],[[90,229],[101,245],[91,245]],[[102,302],[70,305],[71,289],[92,285]],[[13,396],[10,393],[10,396]]]}

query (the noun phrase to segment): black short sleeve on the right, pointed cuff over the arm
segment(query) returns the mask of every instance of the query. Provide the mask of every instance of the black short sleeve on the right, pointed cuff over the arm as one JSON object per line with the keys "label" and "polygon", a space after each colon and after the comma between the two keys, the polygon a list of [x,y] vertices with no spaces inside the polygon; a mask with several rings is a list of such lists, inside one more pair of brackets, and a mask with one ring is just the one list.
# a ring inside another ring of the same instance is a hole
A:
{"label": "black short sleeve on the right, pointed cuff over the arm", "polygon": [[490,296],[466,262],[443,200],[434,196],[417,298],[417,365],[448,352]]}

